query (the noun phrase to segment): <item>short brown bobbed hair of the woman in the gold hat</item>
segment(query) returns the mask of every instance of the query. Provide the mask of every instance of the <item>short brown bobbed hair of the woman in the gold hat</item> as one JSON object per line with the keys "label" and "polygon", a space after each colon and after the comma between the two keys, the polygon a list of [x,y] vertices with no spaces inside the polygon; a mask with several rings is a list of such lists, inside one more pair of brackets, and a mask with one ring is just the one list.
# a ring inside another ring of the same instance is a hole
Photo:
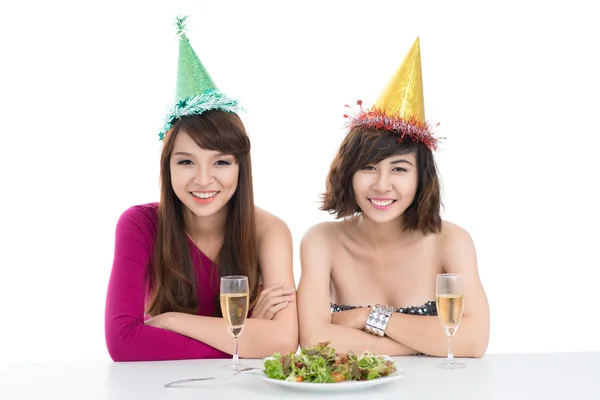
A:
{"label": "short brown bobbed hair of the woman in the gold hat", "polygon": [[386,130],[355,127],[342,141],[331,163],[323,202],[323,211],[345,218],[362,213],[356,202],[352,178],[360,169],[393,155],[415,152],[418,186],[415,199],[404,211],[403,229],[418,230],[424,235],[442,228],[441,189],[433,153],[424,144],[408,138],[398,143],[398,134]]}

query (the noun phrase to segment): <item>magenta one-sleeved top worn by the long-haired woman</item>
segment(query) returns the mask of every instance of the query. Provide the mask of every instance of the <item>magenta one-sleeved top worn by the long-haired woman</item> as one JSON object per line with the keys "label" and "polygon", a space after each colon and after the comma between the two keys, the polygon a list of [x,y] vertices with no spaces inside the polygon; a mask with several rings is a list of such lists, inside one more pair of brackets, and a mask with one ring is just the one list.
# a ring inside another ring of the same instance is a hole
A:
{"label": "magenta one-sleeved top worn by the long-haired woman", "polygon": [[[114,361],[229,358],[205,343],[147,326],[148,265],[157,226],[158,203],[133,206],[119,218],[105,309],[106,346]],[[219,274],[214,263],[188,239],[197,277],[199,315],[214,316]]]}

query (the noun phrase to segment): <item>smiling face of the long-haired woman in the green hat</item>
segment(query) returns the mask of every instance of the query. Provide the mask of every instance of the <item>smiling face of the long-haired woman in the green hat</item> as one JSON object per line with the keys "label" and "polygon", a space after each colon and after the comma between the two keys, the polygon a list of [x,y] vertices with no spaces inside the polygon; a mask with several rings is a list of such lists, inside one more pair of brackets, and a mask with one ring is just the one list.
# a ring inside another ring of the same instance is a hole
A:
{"label": "smiling face of the long-haired woman in the green hat", "polygon": [[203,149],[182,130],[173,144],[170,170],[173,191],[192,214],[210,217],[227,212],[239,176],[233,155]]}

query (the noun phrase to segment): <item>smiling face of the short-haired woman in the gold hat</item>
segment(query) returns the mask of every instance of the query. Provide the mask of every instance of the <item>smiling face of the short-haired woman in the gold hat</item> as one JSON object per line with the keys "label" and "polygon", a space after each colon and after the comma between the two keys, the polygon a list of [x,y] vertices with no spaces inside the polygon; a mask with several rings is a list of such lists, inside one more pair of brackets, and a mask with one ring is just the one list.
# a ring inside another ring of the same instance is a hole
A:
{"label": "smiling face of the short-haired woman in the gold hat", "polygon": [[400,217],[417,193],[419,175],[415,152],[387,157],[358,170],[352,188],[363,215],[386,223]]}

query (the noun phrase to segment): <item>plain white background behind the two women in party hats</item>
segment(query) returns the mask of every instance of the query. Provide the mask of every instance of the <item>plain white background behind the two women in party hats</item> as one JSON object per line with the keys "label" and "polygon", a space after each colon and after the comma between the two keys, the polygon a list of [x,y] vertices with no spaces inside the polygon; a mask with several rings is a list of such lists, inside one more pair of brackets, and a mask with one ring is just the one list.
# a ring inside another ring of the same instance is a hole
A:
{"label": "plain white background behind the two women in party hats", "polygon": [[426,116],[448,138],[444,218],[477,247],[488,352],[600,350],[592,3],[2,2],[0,371],[108,359],[115,224],[158,199],[178,14],[247,111],[256,202],[288,223],[296,255],[331,219],[318,200],[344,104],[372,104],[419,36]]}

